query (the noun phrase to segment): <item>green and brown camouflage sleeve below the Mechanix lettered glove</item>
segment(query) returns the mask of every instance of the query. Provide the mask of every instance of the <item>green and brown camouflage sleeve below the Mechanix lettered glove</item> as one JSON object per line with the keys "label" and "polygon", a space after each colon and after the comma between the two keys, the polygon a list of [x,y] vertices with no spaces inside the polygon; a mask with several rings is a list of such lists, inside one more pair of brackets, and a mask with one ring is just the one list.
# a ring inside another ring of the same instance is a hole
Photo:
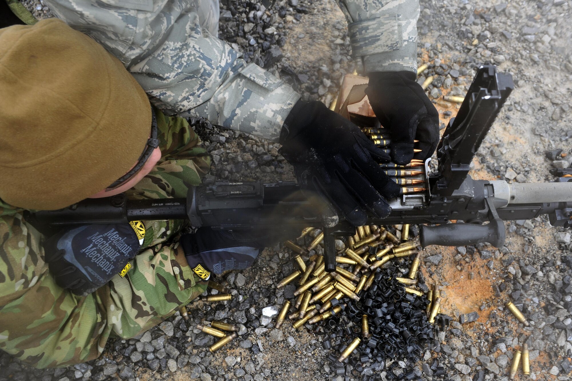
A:
{"label": "green and brown camouflage sleeve below the Mechanix lettered glove", "polygon": [[127,275],[79,297],[55,284],[41,235],[0,200],[0,349],[38,368],[85,362],[110,336],[136,336],[204,292],[182,249],[163,245],[169,227],[148,228],[144,245],[154,246]]}

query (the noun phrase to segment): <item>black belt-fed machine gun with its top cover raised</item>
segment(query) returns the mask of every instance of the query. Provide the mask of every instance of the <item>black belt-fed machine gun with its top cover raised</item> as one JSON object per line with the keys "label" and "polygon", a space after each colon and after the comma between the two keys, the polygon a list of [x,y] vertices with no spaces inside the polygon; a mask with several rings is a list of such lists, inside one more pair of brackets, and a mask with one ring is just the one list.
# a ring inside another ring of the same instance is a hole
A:
{"label": "black belt-fed machine gun with its top cover raised", "polygon": [[[427,191],[390,200],[391,215],[385,219],[371,217],[367,224],[436,224],[420,227],[422,247],[481,242],[499,247],[505,242],[503,221],[540,215],[549,215],[553,226],[571,227],[572,176],[566,170],[557,181],[538,184],[473,180],[468,176],[472,158],[513,88],[510,74],[496,72],[495,66],[481,66],[439,143],[438,170],[426,176]],[[425,168],[428,173],[428,160]],[[25,218],[41,231],[66,225],[157,219],[189,219],[193,227],[216,229],[320,227],[327,271],[335,270],[334,237],[355,233],[343,219],[325,226],[315,203],[294,182],[217,181],[191,189],[186,199],[127,200],[119,195],[84,200],[59,211],[26,213]],[[448,223],[450,220],[457,222]]]}

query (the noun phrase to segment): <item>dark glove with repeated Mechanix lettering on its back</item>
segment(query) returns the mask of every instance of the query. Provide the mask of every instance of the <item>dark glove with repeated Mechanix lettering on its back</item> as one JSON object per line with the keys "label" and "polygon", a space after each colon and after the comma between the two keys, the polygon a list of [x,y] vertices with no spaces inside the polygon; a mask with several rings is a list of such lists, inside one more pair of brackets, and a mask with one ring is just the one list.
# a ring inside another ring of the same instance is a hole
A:
{"label": "dark glove with repeated Mechanix lettering on its back", "polygon": [[45,260],[56,284],[86,296],[116,274],[125,276],[144,236],[141,221],[66,228],[43,245]]}

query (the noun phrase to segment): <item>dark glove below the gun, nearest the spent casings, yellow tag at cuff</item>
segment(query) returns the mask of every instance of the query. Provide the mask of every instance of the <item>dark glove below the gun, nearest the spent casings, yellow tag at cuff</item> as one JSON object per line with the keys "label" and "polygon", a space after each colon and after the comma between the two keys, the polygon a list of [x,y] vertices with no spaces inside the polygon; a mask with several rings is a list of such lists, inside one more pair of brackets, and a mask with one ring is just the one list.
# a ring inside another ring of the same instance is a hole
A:
{"label": "dark glove below the gun, nearest the spent casings, yellow tag at cuff", "polygon": [[295,237],[296,233],[279,229],[261,231],[224,231],[198,228],[195,233],[181,236],[180,243],[190,268],[202,279],[210,272],[219,275],[227,270],[251,267],[265,247]]}

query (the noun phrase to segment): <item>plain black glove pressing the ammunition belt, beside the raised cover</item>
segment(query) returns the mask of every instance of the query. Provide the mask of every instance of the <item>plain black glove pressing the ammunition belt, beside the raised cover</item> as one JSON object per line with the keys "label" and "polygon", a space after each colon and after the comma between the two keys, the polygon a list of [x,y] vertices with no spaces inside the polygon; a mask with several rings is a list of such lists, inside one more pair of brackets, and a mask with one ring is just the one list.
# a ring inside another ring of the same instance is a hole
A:
{"label": "plain black glove pressing the ammunition belt, beside the raised cover", "polygon": [[[413,72],[370,73],[366,89],[372,109],[391,132],[391,157],[397,164],[431,157],[439,142],[439,113],[415,82]],[[414,154],[415,148],[422,152]]]}

